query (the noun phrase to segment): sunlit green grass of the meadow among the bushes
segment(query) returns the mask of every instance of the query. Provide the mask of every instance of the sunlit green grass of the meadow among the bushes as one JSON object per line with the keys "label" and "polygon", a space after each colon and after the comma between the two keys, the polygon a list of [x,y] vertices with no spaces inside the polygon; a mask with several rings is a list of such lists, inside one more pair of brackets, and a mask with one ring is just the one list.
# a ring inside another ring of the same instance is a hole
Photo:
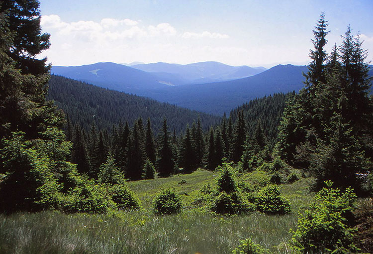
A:
{"label": "sunlit green grass of the meadow among the bushes", "polygon": [[[297,212],[313,197],[306,188],[308,180],[280,186],[292,205],[289,215],[255,212],[225,217],[190,208],[204,184],[215,184],[214,174],[197,170],[170,178],[128,182],[142,201],[140,211],[0,215],[0,254],[229,254],[239,240],[248,237],[274,252],[288,253],[289,229],[296,228]],[[182,184],[182,180],[186,183]],[[162,186],[182,193],[187,206],[181,214],[152,213],[151,201]]]}

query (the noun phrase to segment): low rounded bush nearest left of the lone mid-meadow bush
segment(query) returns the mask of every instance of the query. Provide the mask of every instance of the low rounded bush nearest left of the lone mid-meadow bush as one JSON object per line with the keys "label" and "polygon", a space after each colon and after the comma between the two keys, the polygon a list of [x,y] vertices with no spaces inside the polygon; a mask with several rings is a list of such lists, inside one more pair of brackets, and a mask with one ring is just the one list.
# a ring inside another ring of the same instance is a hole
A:
{"label": "low rounded bush nearest left of the lone mid-meadow bush", "polygon": [[139,209],[140,200],[123,184],[116,184],[110,188],[111,198],[118,209]]}

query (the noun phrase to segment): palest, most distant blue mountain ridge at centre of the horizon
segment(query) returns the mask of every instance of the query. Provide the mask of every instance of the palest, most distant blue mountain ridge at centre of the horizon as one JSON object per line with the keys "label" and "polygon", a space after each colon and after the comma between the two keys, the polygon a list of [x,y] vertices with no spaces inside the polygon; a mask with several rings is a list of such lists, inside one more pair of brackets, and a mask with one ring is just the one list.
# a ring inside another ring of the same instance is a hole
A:
{"label": "palest, most distant blue mountain ridge at centre of the horizon", "polygon": [[219,62],[192,64],[151,63],[133,68],[152,73],[161,79],[173,80],[173,85],[201,84],[250,77],[266,70],[264,67],[230,66]]}

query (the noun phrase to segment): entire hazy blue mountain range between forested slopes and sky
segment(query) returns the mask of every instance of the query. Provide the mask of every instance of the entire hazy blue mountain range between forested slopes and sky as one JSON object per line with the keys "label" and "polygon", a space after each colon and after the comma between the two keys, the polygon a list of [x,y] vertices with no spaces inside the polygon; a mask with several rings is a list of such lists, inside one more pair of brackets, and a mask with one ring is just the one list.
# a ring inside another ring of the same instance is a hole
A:
{"label": "entire hazy blue mountain range between forested slopes and sky", "polygon": [[[259,68],[260,73],[246,78],[183,84],[187,79],[207,81],[215,77],[219,80],[224,75],[225,77],[231,75],[229,77],[232,78],[246,67],[227,66],[217,62],[190,65],[156,63],[131,67],[115,63],[96,63],[70,67],[52,66],[51,72],[103,88],[149,97],[191,110],[222,115],[255,98],[274,93],[298,92],[304,86],[303,73],[308,70],[307,66],[277,65],[268,70]],[[252,69],[254,68],[250,70]],[[371,69],[370,75],[372,74]],[[205,78],[201,78],[202,76]]]}

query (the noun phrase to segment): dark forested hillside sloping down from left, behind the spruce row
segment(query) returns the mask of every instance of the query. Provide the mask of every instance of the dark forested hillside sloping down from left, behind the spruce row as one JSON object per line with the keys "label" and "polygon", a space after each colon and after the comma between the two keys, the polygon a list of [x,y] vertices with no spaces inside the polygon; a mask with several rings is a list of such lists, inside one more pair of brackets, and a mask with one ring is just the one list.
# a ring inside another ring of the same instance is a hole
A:
{"label": "dark forested hillside sloping down from left, behind the spruce row", "polygon": [[171,130],[180,133],[187,124],[199,117],[202,128],[220,123],[220,117],[183,109],[152,99],[107,90],[80,81],[52,75],[49,81],[48,99],[54,100],[69,117],[73,125],[88,130],[94,124],[99,129],[110,130],[127,121],[132,124],[138,118],[151,118],[154,131],[162,127],[166,117]]}

